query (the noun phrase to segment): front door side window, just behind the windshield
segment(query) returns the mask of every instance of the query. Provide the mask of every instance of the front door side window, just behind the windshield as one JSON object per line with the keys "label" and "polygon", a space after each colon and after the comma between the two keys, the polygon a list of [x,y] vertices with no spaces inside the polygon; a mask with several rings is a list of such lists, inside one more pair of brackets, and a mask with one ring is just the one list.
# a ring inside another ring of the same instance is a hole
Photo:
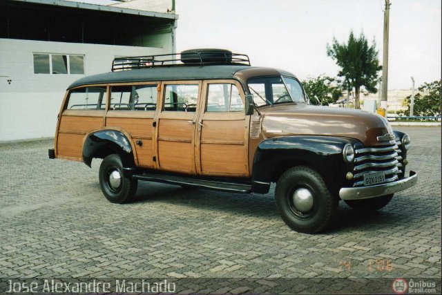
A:
{"label": "front door side window, just behind the windshield", "polygon": [[233,84],[209,84],[206,112],[244,111],[238,88]]}

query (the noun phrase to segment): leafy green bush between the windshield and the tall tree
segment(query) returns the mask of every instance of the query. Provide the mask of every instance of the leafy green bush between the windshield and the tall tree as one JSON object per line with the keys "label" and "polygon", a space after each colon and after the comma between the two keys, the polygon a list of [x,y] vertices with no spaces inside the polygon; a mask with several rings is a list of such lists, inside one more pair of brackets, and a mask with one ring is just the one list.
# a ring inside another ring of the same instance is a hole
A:
{"label": "leafy green bush between the windshield and the tall tree", "polygon": [[338,80],[331,77],[309,78],[302,81],[302,86],[304,86],[304,90],[312,104],[317,104],[315,97],[318,97],[321,105],[328,106],[328,104],[333,104],[342,96],[342,89]]}

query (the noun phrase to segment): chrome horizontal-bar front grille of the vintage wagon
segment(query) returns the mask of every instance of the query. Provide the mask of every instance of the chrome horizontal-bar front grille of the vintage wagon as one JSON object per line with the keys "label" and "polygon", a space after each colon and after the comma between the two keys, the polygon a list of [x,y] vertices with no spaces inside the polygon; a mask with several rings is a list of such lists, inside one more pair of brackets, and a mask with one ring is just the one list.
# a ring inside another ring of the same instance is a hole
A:
{"label": "chrome horizontal-bar front grille of the vintage wagon", "polygon": [[364,185],[364,175],[369,173],[385,173],[385,182],[398,180],[402,173],[401,142],[390,142],[382,146],[361,146],[355,149],[354,187]]}

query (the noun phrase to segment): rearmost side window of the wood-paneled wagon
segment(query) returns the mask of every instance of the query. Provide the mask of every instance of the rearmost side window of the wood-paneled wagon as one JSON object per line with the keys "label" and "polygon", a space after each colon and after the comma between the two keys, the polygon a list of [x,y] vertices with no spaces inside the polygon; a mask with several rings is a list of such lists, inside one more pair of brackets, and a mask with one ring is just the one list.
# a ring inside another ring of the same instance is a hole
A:
{"label": "rearmost side window of the wood-paneled wagon", "polygon": [[84,87],[69,93],[67,109],[104,110],[106,106],[106,87]]}

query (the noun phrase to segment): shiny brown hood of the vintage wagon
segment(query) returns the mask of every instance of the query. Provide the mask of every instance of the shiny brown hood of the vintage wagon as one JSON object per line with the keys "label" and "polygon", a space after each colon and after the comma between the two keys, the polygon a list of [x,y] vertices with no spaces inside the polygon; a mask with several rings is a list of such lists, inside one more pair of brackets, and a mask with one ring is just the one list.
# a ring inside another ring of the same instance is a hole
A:
{"label": "shiny brown hood of the vintage wagon", "polygon": [[393,134],[385,118],[365,111],[329,106],[282,104],[260,110],[265,137],[333,135],[352,137],[365,146],[380,144],[378,136]]}

